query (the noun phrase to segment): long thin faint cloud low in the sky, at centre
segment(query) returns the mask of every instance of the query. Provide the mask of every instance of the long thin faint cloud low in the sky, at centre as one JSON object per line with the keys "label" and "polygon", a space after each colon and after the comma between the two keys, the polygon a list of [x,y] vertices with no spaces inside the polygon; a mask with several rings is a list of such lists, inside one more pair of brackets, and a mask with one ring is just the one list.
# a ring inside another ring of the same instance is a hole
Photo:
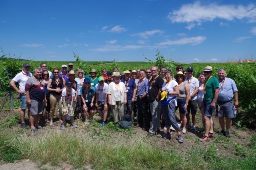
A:
{"label": "long thin faint cloud low in the sky, at centre", "polygon": [[100,48],[94,48],[91,49],[92,51],[124,51],[124,50],[128,50],[128,49],[141,49],[144,48],[144,45],[105,45],[102,46]]}

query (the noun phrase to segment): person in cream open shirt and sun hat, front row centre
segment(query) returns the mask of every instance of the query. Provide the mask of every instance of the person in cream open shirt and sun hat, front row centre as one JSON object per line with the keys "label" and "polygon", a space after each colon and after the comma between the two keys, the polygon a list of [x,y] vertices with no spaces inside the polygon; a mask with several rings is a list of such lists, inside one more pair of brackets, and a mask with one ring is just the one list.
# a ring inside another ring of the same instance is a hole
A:
{"label": "person in cream open shirt and sun hat, front row centre", "polygon": [[114,72],[114,81],[108,85],[108,101],[111,107],[114,122],[119,122],[124,116],[124,104],[126,101],[126,87],[120,82],[120,73]]}

